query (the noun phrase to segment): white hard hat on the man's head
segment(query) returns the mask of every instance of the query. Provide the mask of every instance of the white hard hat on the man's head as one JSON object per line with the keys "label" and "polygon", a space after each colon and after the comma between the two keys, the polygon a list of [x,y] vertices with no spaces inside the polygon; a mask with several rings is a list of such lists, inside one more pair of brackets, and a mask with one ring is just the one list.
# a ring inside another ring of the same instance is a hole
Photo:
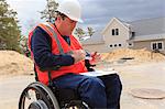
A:
{"label": "white hard hat on the man's head", "polygon": [[78,22],[82,22],[81,17],[81,7],[77,0],[64,0],[59,3],[57,11],[67,15],[69,19]]}

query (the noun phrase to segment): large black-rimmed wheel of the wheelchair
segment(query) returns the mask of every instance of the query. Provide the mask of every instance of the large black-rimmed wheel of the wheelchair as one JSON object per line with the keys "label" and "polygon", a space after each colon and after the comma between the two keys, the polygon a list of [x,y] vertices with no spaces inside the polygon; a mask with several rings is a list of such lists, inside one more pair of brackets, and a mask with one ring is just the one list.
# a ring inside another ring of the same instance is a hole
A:
{"label": "large black-rimmed wheel of the wheelchair", "polygon": [[36,81],[22,91],[19,109],[59,109],[59,106],[52,90]]}

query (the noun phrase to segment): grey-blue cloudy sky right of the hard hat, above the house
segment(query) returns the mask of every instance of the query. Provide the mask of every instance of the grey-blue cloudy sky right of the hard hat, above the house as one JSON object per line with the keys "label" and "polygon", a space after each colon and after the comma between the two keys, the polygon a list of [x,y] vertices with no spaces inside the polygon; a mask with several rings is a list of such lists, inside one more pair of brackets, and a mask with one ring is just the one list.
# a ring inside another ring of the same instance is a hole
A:
{"label": "grey-blue cloudy sky right of the hard hat, above the house", "polygon": [[106,26],[113,17],[133,21],[165,15],[164,0],[80,0],[80,3],[85,20],[81,26]]}

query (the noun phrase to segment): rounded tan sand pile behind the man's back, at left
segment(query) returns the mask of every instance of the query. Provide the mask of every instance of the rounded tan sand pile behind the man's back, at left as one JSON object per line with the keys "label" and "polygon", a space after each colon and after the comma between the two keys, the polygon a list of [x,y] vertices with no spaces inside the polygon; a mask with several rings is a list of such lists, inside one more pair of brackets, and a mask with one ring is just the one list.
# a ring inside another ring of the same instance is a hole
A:
{"label": "rounded tan sand pile behind the man's back, at left", "polygon": [[14,51],[0,51],[0,75],[31,74],[33,62]]}

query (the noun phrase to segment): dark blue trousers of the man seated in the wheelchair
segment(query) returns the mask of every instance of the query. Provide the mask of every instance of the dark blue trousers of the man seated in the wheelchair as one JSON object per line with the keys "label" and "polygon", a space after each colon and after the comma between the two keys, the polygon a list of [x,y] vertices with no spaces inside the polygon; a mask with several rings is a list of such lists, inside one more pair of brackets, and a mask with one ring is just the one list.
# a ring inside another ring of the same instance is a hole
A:
{"label": "dark blue trousers of the man seated in the wheelchair", "polygon": [[92,109],[120,109],[121,81],[117,74],[91,77],[67,74],[54,79],[58,88],[77,90],[82,101]]}

